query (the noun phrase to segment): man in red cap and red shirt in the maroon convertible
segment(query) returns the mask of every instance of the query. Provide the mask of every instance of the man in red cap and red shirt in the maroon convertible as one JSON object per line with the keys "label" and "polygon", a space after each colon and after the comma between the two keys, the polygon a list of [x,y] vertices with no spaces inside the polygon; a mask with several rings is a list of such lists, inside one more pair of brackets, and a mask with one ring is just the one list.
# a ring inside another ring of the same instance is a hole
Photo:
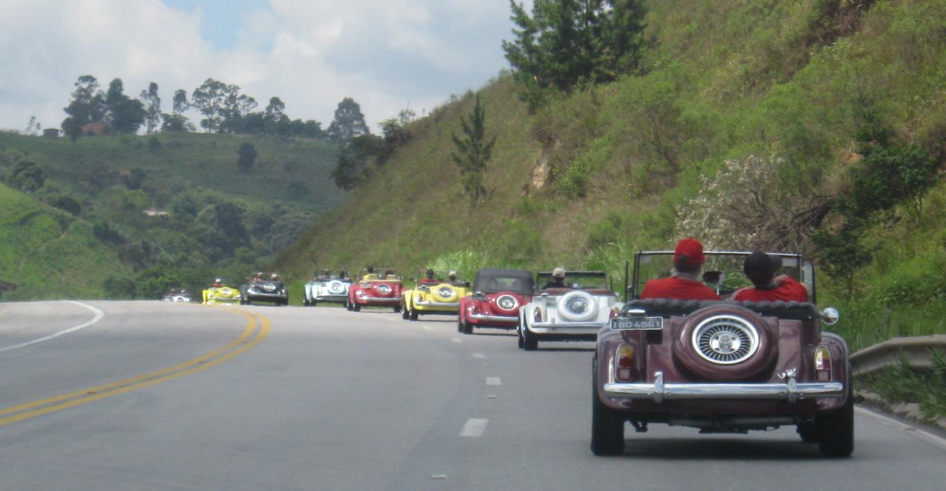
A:
{"label": "man in red cap and red shirt in the maroon convertible", "polygon": [[674,274],[668,278],[650,280],[640,292],[640,298],[674,298],[678,300],[719,300],[719,295],[699,280],[700,268],[706,256],[703,244],[695,238],[684,238],[674,249]]}

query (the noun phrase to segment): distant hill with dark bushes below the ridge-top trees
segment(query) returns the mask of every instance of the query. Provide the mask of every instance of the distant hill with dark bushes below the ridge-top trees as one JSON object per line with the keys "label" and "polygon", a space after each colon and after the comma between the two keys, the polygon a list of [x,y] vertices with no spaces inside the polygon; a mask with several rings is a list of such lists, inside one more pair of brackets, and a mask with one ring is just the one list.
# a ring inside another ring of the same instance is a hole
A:
{"label": "distant hill with dark bushes below the ridge-top trees", "polygon": [[60,291],[48,286],[44,268],[81,276],[81,284],[68,283],[72,296],[112,298],[157,298],[170,287],[196,290],[215,276],[237,282],[267,269],[272,254],[342,200],[329,179],[337,151],[325,141],[266,135],[161,132],[73,144],[0,133],[0,179],[26,193],[13,200],[9,191],[3,208],[46,210],[36,237],[32,228],[18,234],[38,247],[55,222],[66,242],[92,237],[79,241],[87,250],[55,259],[4,242],[2,254],[20,261],[0,270],[0,280],[18,285],[5,298]]}

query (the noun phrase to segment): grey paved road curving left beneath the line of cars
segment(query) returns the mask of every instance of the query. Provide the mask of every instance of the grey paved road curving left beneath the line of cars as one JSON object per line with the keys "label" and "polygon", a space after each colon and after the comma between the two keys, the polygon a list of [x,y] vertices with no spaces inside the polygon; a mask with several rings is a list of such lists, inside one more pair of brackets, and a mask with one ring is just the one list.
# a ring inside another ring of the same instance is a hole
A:
{"label": "grey paved road curving left beneath the line of cars", "polygon": [[157,302],[0,304],[3,489],[941,489],[946,442],[857,412],[850,459],[794,429],[627,431],[588,450],[592,343],[447,317]]}

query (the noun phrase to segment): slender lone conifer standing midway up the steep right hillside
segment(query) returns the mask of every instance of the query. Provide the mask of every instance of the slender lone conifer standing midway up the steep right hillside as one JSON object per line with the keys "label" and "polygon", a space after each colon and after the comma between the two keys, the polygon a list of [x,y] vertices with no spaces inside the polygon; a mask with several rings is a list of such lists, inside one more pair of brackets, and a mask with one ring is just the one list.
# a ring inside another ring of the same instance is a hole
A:
{"label": "slender lone conifer standing midway up the steep right hillside", "polygon": [[496,145],[496,136],[486,142],[486,115],[480,104],[480,96],[476,96],[476,105],[473,112],[468,114],[469,120],[460,116],[460,126],[464,131],[463,138],[450,133],[450,139],[458,153],[451,153],[453,162],[460,167],[463,175],[464,191],[472,193],[473,202],[480,200],[485,191],[482,186],[482,171],[493,156],[493,146]]}

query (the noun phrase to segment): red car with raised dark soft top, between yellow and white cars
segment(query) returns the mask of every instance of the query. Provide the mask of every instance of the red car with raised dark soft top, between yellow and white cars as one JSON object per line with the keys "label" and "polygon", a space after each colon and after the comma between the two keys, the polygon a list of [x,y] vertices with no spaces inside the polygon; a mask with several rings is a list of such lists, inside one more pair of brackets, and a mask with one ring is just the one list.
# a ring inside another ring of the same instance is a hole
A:
{"label": "red car with raised dark soft top, between yellow and white cars", "polygon": [[473,294],[460,299],[457,329],[473,332],[473,327],[515,329],[519,308],[532,300],[532,272],[526,270],[480,270],[473,282]]}

